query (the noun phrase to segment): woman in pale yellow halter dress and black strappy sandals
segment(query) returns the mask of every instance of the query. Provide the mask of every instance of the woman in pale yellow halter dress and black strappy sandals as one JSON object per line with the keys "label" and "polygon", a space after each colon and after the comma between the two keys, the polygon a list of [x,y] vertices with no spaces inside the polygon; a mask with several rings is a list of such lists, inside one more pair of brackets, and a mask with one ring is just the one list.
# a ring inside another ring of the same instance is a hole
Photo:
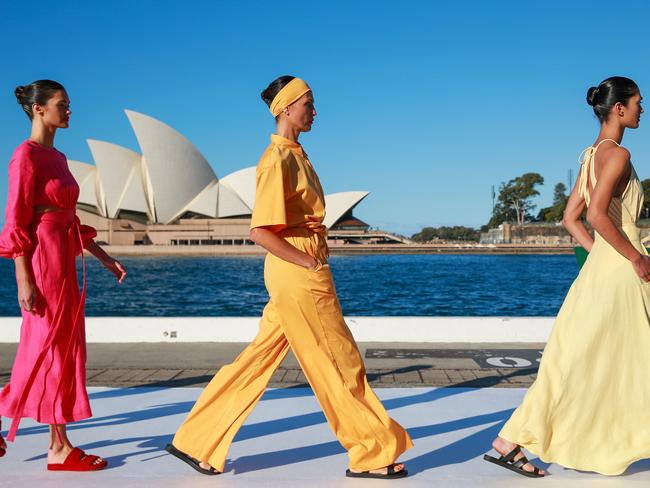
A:
{"label": "woman in pale yellow halter dress and black strappy sandals", "polygon": [[[636,221],[643,189],[620,146],[643,113],[638,86],[612,77],[587,94],[601,123],[562,223],[589,256],[557,315],[537,380],[485,456],[519,474],[547,463],[623,473],[650,458],[650,258]],[[587,208],[592,238],[580,220]]]}

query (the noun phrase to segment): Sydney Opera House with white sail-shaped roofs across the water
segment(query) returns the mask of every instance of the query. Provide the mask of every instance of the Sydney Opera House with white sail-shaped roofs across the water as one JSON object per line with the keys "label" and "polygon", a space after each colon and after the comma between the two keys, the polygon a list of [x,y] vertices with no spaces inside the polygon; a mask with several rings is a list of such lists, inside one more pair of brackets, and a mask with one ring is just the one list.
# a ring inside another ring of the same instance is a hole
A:
{"label": "Sydney Opera House with white sail-shaped roofs across the water", "polygon": [[[194,145],[168,125],[126,111],[141,153],[88,140],[95,164],[69,161],[81,188],[78,215],[108,245],[250,244],[255,166],[219,178]],[[368,195],[326,195],[325,225],[339,242],[375,239],[352,209]]]}

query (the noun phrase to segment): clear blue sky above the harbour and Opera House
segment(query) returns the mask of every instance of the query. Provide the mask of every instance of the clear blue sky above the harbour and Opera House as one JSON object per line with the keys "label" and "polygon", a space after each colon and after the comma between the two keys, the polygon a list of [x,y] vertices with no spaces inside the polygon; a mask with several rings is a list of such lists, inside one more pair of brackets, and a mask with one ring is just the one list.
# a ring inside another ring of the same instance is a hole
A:
{"label": "clear blue sky above the harbour and Opera House", "polygon": [[[217,176],[257,163],[273,130],[259,98],[275,77],[312,86],[318,117],[301,142],[326,193],[368,190],[356,214],[411,234],[484,224],[491,185],[541,173],[537,199],[577,172],[597,123],[590,85],[650,87],[650,4],[604,1],[64,1],[0,4],[0,200],[28,136],[17,84],[62,82],[69,159],[87,138],[139,150],[123,109],[188,137]],[[650,177],[646,127],[628,132]]]}

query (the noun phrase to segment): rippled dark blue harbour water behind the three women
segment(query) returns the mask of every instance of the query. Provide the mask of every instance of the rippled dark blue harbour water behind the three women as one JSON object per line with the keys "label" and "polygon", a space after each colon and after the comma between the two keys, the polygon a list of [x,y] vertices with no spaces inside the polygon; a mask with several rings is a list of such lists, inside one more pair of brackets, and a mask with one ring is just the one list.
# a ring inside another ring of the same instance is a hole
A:
{"label": "rippled dark blue harbour water behind the three women", "polygon": [[[256,316],[262,257],[124,258],[118,285],[93,258],[89,316]],[[333,256],[346,315],[552,316],[578,273],[573,256]],[[0,316],[19,315],[13,263],[0,260]]]}

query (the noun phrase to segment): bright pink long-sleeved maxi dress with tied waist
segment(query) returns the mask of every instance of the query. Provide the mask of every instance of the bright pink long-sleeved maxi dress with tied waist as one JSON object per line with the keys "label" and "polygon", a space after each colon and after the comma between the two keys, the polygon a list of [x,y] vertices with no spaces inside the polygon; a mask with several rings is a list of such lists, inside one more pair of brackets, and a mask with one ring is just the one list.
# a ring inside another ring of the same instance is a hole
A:
{"label": "bright pink long-sleeved maxi dress with tied waist", "polygon": [[[21,311],[11,379],[0,392],[0,417],[12,419],[9,441],[22,417],[65,424],[92,415],[86,393],[85,265],[80,291],[76,256],[97,233],[80,225],[78,197],[79,186],[63,153],[32,141],[16,148],[9,164],[0,256],[27,256],[37,299],[35,313]],[[39,206],[60,210],[36,213]]]}

